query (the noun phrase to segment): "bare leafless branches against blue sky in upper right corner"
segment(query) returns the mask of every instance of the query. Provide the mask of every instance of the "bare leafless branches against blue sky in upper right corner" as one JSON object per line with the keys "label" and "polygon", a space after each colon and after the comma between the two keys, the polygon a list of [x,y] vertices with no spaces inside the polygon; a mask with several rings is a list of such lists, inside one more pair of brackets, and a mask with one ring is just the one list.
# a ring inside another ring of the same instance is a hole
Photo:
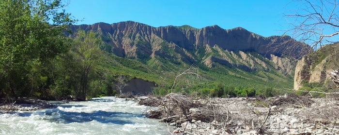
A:
{"label": "bare leafless branches against blue sky in upper right corner", "polygon": [[305,42],[316,50],[328,43],[338,42],[339,1],[337,0],[294,0],[299,5],[293,14],[286,14],[291,19],[291,34],[294,39]]}

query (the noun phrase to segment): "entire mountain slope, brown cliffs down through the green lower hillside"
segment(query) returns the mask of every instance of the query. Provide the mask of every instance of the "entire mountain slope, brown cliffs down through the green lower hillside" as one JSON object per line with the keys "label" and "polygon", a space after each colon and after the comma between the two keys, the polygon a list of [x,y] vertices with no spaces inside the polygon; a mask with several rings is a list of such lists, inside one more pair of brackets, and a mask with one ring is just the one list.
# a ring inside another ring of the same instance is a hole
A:
{"label": "entire mountain slope, brown cliffs down through the green lower hillside", "polygon": [[262,37],[242,27],[151,27],[133,21],[70,26],[72,33],[79,29],[97,32],[104,41],[101,49],[114,54],[105,56],[107,68],[117,74],[130,74],[130,68],[139,70],[138,75],[130,76],[156,83],[159,81],[156,76],[171,80],[173,72],[194,64],[208,80],[292,87],[295,66],[292,61],[305,49],[295,47],[298,42],[289,36]]}

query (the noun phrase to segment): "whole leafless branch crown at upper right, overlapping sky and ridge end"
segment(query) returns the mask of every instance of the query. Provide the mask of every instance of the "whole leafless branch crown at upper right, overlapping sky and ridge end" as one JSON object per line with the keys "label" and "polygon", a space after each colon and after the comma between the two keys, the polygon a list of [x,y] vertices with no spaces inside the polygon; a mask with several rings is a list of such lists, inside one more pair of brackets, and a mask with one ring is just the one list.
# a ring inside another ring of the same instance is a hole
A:
{"label": "whole leafless branch crown at upper right, overlapping sky and ridge end", "polygon": [[338,0],[293,0],[289,5],[297,7],[284,14],[290,28],[282,36],[269,37],[271,51],[300,58],[338,42]]}

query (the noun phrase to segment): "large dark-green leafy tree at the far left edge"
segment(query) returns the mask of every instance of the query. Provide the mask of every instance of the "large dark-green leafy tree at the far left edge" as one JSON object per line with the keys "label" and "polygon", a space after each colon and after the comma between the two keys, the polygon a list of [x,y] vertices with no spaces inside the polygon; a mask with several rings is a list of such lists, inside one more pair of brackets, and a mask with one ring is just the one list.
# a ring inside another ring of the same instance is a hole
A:
{"label": "large dark-green leafy tree at the far left edge", "polygon": [[14,97],[30,94],[28,73],[32,63],[45,62],[68,50],[62,32],[77,20],[60,10],[63,7],[61,0],[1,0],[0,90],[3,93]]}

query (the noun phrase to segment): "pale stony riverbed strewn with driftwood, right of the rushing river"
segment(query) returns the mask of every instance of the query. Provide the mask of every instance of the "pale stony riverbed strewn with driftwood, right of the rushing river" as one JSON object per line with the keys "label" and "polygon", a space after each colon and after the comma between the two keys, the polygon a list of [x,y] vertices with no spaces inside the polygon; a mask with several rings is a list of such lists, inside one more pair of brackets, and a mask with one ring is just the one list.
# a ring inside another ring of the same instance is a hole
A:
{"label": "pale stony riverbed strewn with driftwood, right of the rushing river", "polygon": [[[186,99],[185,102],[190,100],[189,98]],[[153,99],[152,102],[154,102]],[[181,100],[174,101],[169,100],[169,98],[164,98],[160,102],[163,104],[168,104],[167,102],[183,103]],[[174,113],[176,115],[168,115],[158,119],[172,125],[170,128],[173,133],[186,135],[339,134],[339,100],[336,98],[310,98],[287,95],[268,99],[192,99],[192,103],[197,102],[206,106],[213,106],[204,110],[201,107],[186,108],[184,110],[185,114],[182,114],[184,113],[183,109],[167,106],[165,108],[168,111],[177,111]],[[159,108],[163,107],[159,106]],[[212,117],[211,121],[205,119],[204,114],[209,114],[209,117]],[[184,117],[185,115],[187,117]]]}

